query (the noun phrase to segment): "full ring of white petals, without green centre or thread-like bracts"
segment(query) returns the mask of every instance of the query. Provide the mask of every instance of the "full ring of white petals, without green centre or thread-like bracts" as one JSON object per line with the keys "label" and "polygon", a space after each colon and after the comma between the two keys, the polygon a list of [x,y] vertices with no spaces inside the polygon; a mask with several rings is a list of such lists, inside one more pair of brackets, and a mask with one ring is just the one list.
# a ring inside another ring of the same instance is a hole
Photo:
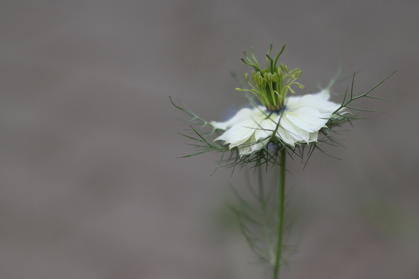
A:
{"label": "full ring of white petals, without green centre or thread-like bracts", "polygon": [[228,121],[211,122],[215,128],[226,130],[215,140],[225,141],[230,149],[237,146],[240,155],[264,148],[276,129],[276,136],[292,147],[295,143],[316,142],[318,131],[326,127],[328,118],[340,106],[329,98],[329,90],[322,90],[288,97],[280,111],[272,112],[264,106],[243,108]]}

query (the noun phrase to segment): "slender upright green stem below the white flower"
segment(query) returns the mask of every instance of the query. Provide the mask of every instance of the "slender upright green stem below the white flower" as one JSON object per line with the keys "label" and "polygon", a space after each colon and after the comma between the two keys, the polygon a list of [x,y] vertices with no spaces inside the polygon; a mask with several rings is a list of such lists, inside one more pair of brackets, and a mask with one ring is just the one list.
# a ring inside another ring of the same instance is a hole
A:
{"label": "slender upright green stem below the white flower", "polygon": [[279,191],[278,191],[278,240],[277,240],[277,254],[275,256],[274,276],[273,279],[278,278],[279,263],[281,261],[281,248],[282,248],[282,231],[284,226],[284,202],[285,202],[285,159],[287,158],[287,151],[285,148],[281,150],[280,159],[280,177],[279,177]]}

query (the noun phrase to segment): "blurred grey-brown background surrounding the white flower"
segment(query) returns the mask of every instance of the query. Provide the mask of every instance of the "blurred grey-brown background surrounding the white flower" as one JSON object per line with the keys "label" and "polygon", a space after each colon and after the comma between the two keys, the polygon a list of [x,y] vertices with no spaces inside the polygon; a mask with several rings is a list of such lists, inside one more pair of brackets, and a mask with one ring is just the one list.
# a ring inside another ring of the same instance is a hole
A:
{"label": "blurred grey-brown background surrounding the white flower", "polygon": [[[264,268],[226,204],[218,154],[178,132],[184,103],[225,120],[247,101],[230,75],[286,43],[304,90],[339,63],[362,113],[346,148],[288,164],[296,279],[419,278],[417,1],[5,1],[1,4],[0,278],[250,279]],[[340,61],[340,62],[339,62]],[[342,94],[345,80],[334,87]],[[333,99],[339,102],[339,97]],[[265,273],[263,273],[265,272]]]}

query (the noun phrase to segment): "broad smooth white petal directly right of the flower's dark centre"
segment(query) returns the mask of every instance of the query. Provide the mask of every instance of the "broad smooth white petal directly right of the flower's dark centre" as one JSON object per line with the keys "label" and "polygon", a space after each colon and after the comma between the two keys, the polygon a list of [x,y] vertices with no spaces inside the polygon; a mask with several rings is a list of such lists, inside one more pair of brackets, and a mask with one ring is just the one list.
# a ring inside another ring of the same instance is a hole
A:
{"label": "broad smooth white petal directly right of the flower's dark centre", "polygon": [[320,130],[327,122],[327,119],[322,119],[321,113],[312,107],[300,107],[294,111],[285,111],[284,115],[294,125],[310,133]]}

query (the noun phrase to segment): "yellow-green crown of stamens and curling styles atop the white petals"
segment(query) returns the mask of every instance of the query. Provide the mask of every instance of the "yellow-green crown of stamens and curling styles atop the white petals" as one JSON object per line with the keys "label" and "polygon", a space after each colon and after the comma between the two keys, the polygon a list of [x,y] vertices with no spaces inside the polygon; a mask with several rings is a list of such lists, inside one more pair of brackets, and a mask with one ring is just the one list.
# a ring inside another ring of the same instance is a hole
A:
{"label": "yellow-green crown of stamens and curling styles atop the white petals", "polygon": [[271,42],[271,47],[269,48],[268,53],[266,54],[267,68],[265,69],[262,69],[259,66],[253,48],[251,48],[253,61],[248,58],[246,51],[243,50],[244,56],[246,57],[247,61],[243,58],[241,58],[241,60],[255,69],[254,71],[252,71],[251,75],[253,84],[249,82],[249,75],[246,73],[246,81],[252,87],[252,89],[248,90],[236,88],[235,90],[252,92],[254,95],[256,95],[256,97],[258,97],[258,99],[266,107],[266,109],[280,110],[284,106],[284,101],[285,97],[287,96],[288,90],[291,93],[295,93],[295,91],[291,88],[292,84],[297,84],[298,87],[304,88],[303,84],[295,82],[295,80],[297,80],[301,75],[300,69],[295,69],[290,72],[288,70],[288,67],[282,63],[279,64],[279,67],[277,67],[278,58],[282,54],[284,49],[285,44],[284,46],[282,46],[281,51],[275,57],[275,59],[272,59],[269,56],[272,50]]}

